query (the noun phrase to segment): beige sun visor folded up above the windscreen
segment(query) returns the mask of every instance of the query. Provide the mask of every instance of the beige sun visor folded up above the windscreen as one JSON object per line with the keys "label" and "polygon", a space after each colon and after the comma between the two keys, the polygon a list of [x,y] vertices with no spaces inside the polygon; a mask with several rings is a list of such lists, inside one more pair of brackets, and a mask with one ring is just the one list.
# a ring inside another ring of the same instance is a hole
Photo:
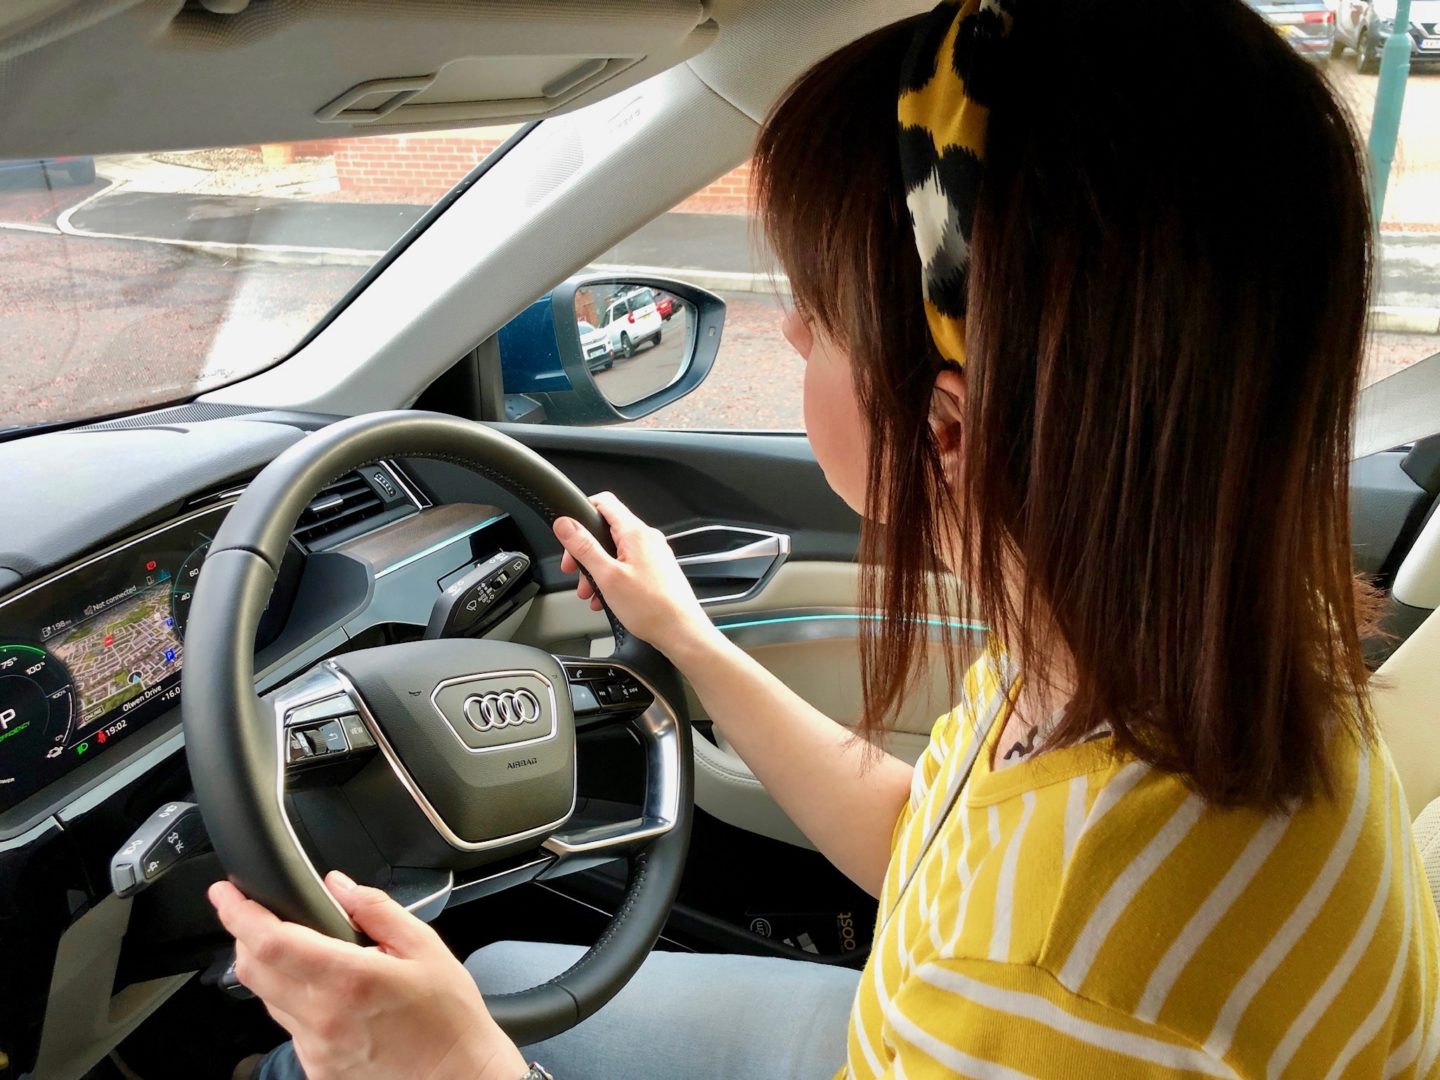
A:
{"label": "beige sun visor folded up above the windscreen", "polygon": [[24,0],[0,158],[539,120],[706,49],[698,0]]}

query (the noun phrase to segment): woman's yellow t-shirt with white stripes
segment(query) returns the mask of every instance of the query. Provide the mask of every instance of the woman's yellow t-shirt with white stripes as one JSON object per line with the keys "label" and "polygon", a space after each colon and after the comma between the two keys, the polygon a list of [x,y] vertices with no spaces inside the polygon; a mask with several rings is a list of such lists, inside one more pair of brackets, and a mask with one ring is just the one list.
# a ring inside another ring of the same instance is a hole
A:
{"label": "woman's yellow t-shirt with white stripes", "polygon": [[1109,739],[994,772],[1007,708],[976,664],[916,766],[842,1077],[1440,1076],[1440,932],[1382,746],[1336,737],[1335,799],[1272,816]]}

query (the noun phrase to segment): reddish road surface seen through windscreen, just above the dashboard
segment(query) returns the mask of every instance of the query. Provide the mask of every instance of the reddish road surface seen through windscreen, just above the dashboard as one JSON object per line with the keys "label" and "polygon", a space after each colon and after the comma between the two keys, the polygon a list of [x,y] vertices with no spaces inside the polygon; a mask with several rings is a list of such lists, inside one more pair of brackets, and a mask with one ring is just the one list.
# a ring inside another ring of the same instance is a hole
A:
{"label": "reddish road surface seen through windscreen, just above the dashboard", "polygon": [[0,232],[0,426],[160,405],[288,353],[360,276]]}

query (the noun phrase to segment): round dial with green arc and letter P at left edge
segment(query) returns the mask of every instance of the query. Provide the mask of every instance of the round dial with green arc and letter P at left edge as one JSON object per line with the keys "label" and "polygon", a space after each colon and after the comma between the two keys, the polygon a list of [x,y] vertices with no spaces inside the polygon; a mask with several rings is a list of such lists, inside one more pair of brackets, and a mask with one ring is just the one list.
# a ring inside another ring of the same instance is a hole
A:
{"label": "round dial with green arc and letter P at left edge", "polygon": [[32,786],[65,753],[75,714],[71,672],[42,648],[0,645],[0,788]]}

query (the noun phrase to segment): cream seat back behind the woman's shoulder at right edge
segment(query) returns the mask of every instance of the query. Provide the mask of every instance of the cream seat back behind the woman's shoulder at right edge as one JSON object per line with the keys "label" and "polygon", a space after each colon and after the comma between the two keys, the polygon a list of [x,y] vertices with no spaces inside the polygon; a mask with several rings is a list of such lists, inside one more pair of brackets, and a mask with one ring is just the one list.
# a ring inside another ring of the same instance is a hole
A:
{"label": "cream seat back behind the woman's shoulder at right edge", "polygon": [[1380,668],[1371,700],[1411,816],[1440,798],[1440,615]]}

